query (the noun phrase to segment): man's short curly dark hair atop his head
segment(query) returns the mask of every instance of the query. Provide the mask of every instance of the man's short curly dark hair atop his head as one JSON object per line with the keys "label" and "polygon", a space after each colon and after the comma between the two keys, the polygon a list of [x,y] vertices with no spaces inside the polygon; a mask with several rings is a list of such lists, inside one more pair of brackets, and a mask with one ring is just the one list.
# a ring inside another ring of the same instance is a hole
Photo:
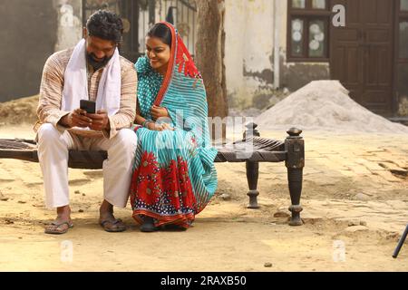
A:
{"label": "man's short curly dark hair atop his head", "polygon": [[123,23],[117,14],[106,10],[98,10],[89,17],[86,22],[86,29],[90,36],[121,43]]}

